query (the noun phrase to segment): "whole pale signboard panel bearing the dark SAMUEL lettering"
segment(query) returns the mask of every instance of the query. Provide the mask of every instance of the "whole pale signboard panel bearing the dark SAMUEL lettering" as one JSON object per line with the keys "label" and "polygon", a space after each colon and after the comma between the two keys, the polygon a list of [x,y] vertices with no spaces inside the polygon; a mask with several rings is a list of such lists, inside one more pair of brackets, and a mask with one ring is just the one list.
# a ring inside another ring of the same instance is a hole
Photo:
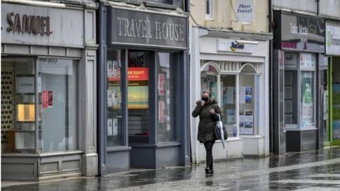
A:
{"label": "whole pale signboard panel bearing the dark SAMUEL lettering", "polygon": [[84,11],[1,4],[1,43],[84,47]]}

